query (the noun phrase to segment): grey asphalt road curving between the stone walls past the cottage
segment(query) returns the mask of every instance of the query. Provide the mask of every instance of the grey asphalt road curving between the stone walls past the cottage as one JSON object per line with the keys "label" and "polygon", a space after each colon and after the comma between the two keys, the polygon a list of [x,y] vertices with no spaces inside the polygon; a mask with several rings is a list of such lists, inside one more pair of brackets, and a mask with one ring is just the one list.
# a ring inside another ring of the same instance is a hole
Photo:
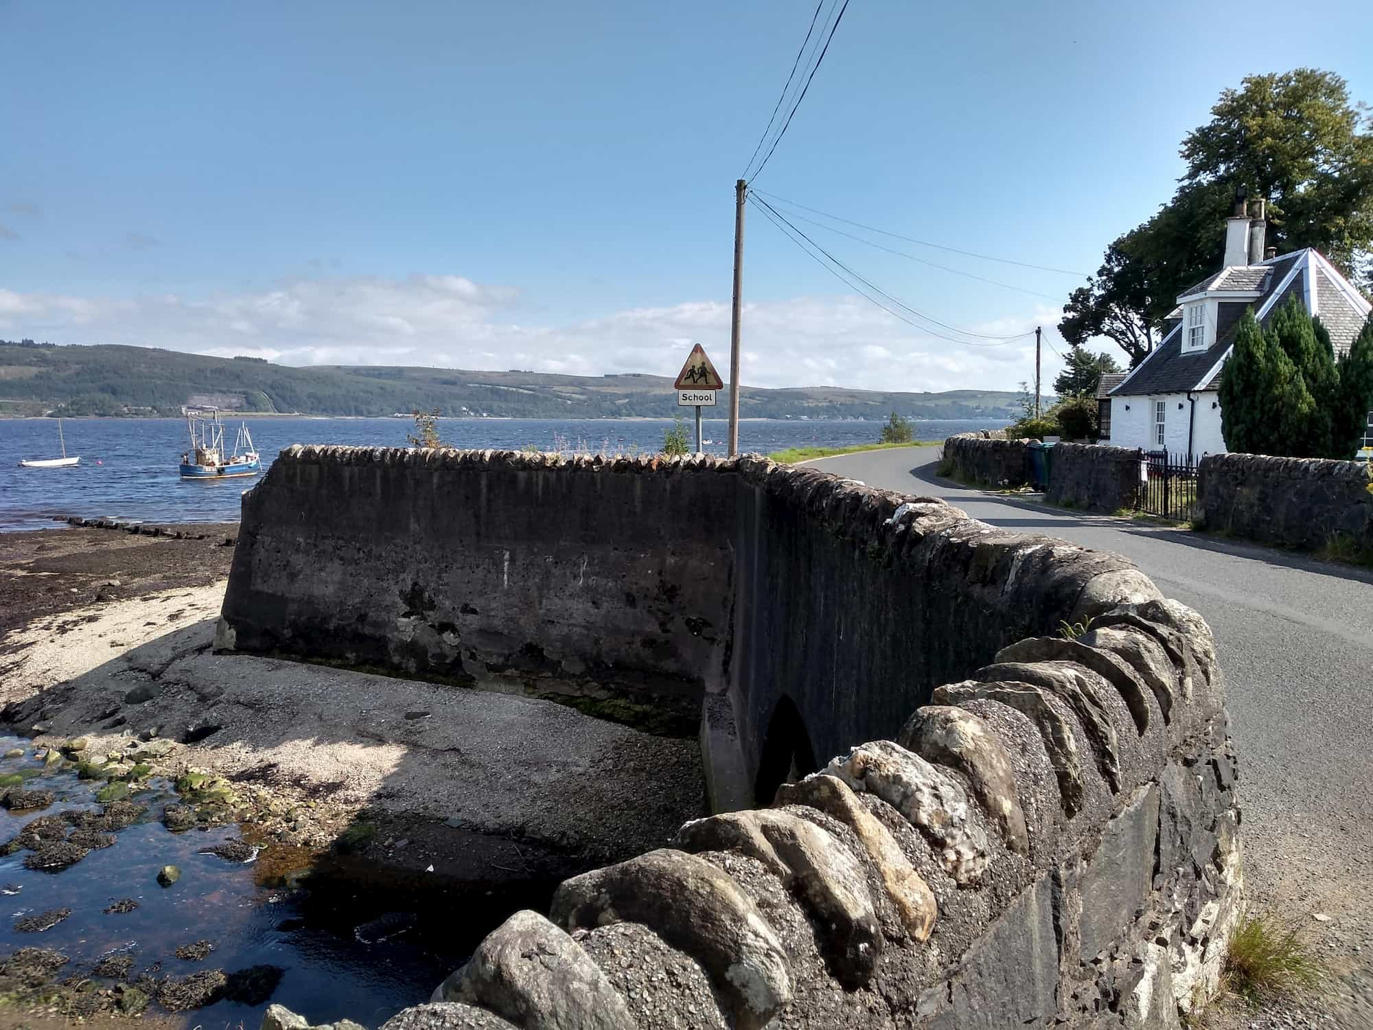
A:
{"label": "grey asphalt road curving between the stone walls past the cottage", "polygon": [[[1142,522],[964,489],[936,448],[822,459],[869,486],[1130,558],[1211,623],[1243,761],[1252,900],[1365,965],[1373,954],[1373,574]],[[1315,913],[1330,920],[1315,922]],[[1358,949],[1358,950],[1355,950]]]}

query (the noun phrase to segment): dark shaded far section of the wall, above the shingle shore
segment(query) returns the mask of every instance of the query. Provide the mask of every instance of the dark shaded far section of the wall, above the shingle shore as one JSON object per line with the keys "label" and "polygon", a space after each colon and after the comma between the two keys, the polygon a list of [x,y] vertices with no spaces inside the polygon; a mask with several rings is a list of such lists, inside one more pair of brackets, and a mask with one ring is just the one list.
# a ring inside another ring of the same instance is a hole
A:
{"label": "dark shaded far section of the wall, above the shingle shore", "polygon": [[1123,588],[1152,591],[1111,555],[758,457],[291,448],[244,494],[216,644],[669,713],[728,810]]}

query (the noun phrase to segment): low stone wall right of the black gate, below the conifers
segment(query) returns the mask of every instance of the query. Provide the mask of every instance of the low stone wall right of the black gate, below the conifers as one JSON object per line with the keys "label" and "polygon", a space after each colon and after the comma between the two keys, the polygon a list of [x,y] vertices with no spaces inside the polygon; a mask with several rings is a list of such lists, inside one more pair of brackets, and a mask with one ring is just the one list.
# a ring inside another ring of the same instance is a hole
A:
{"label": "low stone wall right of the black gate, below the conifers", "polygon": [[1373,494],[1362,461],[1207,455],[1197,504],[1212,533],[1315,551],[1340,533],[1373,553]]}

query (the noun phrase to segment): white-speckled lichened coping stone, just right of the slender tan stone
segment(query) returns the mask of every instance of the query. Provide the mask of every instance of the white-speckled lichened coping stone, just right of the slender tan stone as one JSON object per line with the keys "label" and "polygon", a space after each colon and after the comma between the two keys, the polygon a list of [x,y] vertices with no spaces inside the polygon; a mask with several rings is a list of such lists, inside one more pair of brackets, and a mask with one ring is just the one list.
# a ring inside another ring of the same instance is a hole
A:
{"label": "white-speckled lichened coping stone, just right of the slender tan stone", "polygon": [[851,790],[886,801],[931,842],[945,871],[961,884],[987,868],[987,835],[962,787],[917,754],[890,740],[859,744],[829,762]]}

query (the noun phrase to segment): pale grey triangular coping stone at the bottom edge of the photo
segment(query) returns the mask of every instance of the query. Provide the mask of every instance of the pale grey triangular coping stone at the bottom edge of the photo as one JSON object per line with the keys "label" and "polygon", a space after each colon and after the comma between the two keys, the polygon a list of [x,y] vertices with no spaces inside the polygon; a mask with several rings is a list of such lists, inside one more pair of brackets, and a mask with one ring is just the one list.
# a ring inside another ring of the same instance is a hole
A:
{"label": "pale grey triangular coping stone at the bottom edge of the photo", "polygon": [[625,1000],[581,945],[530,911],[487,934],[439,990],[443,1000],[479,1005],[526,1030],[634,1027]]}

